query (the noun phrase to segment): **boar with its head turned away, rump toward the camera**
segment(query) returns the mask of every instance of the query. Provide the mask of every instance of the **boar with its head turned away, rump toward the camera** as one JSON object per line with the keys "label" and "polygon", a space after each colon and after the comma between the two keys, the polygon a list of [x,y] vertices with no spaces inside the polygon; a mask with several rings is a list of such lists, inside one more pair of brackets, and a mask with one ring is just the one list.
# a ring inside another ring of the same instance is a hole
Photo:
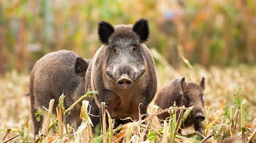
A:
{"label": "boar with its head turned away, rump toward the camera", "polygon": [[[55,99],[55,113],[57,101],[62,93],[66,96],[65,108],[85,94],[85,76],[89,62],[72,51],[61,50],[49,53],[35,63],[29,84],[34,134],[38,134],[43,122],[43,118],[37,122],[34,114],[36,110],[41,110],[42,106],[48,108],[49,100]],[[80,124],[80,106],[72,110],[67,122],[75,127]]]}

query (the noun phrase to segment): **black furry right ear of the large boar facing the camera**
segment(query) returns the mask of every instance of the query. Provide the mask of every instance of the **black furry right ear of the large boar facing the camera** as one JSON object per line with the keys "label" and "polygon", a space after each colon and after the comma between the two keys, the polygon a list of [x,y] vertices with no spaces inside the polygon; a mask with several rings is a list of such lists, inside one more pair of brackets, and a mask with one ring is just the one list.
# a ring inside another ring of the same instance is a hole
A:
{"label": "black furry right ear of the large boar facing the camera", "polygon": [[149,27],[148,27],[148,20],[147,19],[140,19],[137,21],[134,26],[132,27],[132,30],[139,35],[140,42],[144,43],[148,40],[149,37]]}

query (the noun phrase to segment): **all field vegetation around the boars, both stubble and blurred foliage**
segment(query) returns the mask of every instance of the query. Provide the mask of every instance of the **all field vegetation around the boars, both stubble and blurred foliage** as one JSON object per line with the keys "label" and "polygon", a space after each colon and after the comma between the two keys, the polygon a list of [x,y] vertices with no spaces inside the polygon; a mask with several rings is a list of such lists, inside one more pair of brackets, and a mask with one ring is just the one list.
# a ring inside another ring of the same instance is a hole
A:
{"label": "all field vegetation around the boars, both stubble and blurred foliage", "polygon": [[[0,1],[1,142],[256,142],[255,7],[255,0]],[[99,21],[130,24],[142,17],[150,25],[146,45],[156,63],[158,90],[173,78],[198,82],[205,76],[204,134],[193,128],[177,132],[189,109],[179,108],[181,115],[176,107],[160,110],[153,103],[146,119],[112,128],[115,121],[107,116],[104,128],[92,134],[83,101],[78,130],[65,123],[72,110],[59,104],[57,116],[51,108],[37,112],[49,118],[43,136],[33,138],[27,93],[35,61],[60,49],[90,59],[101,45]],[[171,113],[164,124],[156,118],[160,112]]]}

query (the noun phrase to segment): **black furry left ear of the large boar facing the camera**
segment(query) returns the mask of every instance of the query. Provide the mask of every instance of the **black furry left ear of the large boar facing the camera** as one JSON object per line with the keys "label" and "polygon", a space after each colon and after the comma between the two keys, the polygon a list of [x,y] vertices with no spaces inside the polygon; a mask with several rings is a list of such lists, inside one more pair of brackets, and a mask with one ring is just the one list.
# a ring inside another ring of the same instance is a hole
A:
{"label": "black furry left ear of the large boar facing the camera", "polygon": [[112,33],[114,33],[114,27],[110,23],[101,21],[98,24],[98,35],[102,44],[108,44],[108,39]]}

